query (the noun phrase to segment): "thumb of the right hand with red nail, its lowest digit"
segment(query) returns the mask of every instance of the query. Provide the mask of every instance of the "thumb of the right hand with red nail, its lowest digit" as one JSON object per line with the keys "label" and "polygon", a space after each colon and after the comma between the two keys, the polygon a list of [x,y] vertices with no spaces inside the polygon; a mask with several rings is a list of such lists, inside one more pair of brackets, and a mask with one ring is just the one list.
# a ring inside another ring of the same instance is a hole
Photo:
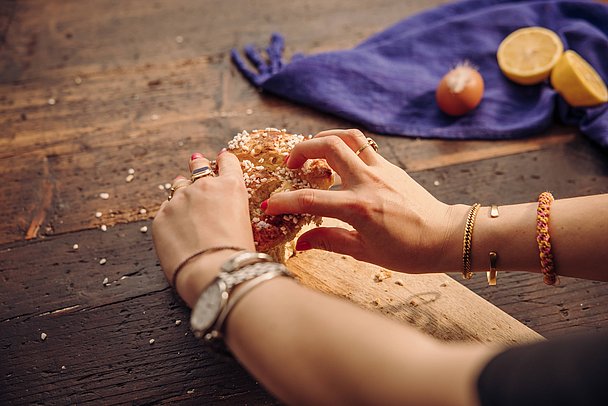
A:
{"label": "thumb of the right hand with red nail, its lowest digit", "polygon": [[354,258],[361,258],[363,254],[363,242],[359,233],[341,227],[313,228],[298,238],[297,251],[313,248],[346,254]]}

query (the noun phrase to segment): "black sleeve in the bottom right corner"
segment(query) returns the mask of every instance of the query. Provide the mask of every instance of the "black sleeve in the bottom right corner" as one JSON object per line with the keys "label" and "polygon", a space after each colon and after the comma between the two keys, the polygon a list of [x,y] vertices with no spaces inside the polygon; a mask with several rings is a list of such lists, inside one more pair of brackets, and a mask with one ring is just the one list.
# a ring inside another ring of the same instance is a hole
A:
{"label": "black sleeve in the bottom right corner", "polygon": [[608,333],[510,348],[477,380],[483,406],[608,405]]}

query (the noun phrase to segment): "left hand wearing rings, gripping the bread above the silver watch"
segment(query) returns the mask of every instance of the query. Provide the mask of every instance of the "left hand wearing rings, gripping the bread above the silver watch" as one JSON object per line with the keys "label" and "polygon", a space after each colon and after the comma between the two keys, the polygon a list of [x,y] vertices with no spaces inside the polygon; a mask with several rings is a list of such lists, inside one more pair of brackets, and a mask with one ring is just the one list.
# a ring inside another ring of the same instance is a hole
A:
{"label": "left hand wearing rings, gripping the bread above the silver watch", "polygon": [[[228,152],[217,157],[219,175],[196,182],[178,176],[171,201],[164,202],[153,223],[152,237],[168,280],[177,266],[203,249],[234,246],[255,251],[247,191],[239,160]],[[190,171],[209,166],[201,154],[193,154]],[[176,289],[190,306],[219,273],[234,251],[204,254],[189,261],[177,278]]]}

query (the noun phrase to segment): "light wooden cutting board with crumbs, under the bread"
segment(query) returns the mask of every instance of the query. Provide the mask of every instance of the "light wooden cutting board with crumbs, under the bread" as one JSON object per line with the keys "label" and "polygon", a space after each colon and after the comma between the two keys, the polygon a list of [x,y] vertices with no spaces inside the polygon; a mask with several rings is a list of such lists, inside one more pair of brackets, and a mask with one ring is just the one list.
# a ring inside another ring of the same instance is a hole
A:
{"label": "light wooden cutting board with crumbs, under the bread", "polygon": [[[350,228],[334,219],[324,219],[323,225]],[[543,339],[446,274],[391,272],[321,250],[298,253],[287,266],[303,285],[407,322],[441,340],[516,344]],[[500,273],[494,288],[500,289]]]}

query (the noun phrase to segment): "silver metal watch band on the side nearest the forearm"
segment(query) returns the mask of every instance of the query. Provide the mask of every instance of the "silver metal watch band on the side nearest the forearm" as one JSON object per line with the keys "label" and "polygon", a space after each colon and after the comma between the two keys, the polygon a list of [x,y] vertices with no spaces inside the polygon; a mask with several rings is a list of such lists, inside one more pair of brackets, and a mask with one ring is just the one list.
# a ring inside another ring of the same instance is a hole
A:
{"label": "silver metal watch band on the side nearest the forearm", "polygon": [[247,293],[251,292],[256,286],[271,279],[274,279],[278,276],[287,276],[293,278],[293,274],[289,272],[285,265],[276,262],[256,263],[253,265],[249,265],[246,268],[243,268],[243,270],[245,269],[251,270],[256,274],[259,273],[259,275],[255,276],[250,280],[242,282],[244,283],[243,287],[238,290],[234,296],[228,299],[228,304],[222,309],[220,315],[215,321],[215,324],[213,325],[213,328],[209,333],[205,334],[205,340],[211,341],[222,338],[222,335],[224,333],[224,323],[226,322],[228,315],[230,314],[232,309],[234,309],[237,303],[243,297],[245,297]]}

